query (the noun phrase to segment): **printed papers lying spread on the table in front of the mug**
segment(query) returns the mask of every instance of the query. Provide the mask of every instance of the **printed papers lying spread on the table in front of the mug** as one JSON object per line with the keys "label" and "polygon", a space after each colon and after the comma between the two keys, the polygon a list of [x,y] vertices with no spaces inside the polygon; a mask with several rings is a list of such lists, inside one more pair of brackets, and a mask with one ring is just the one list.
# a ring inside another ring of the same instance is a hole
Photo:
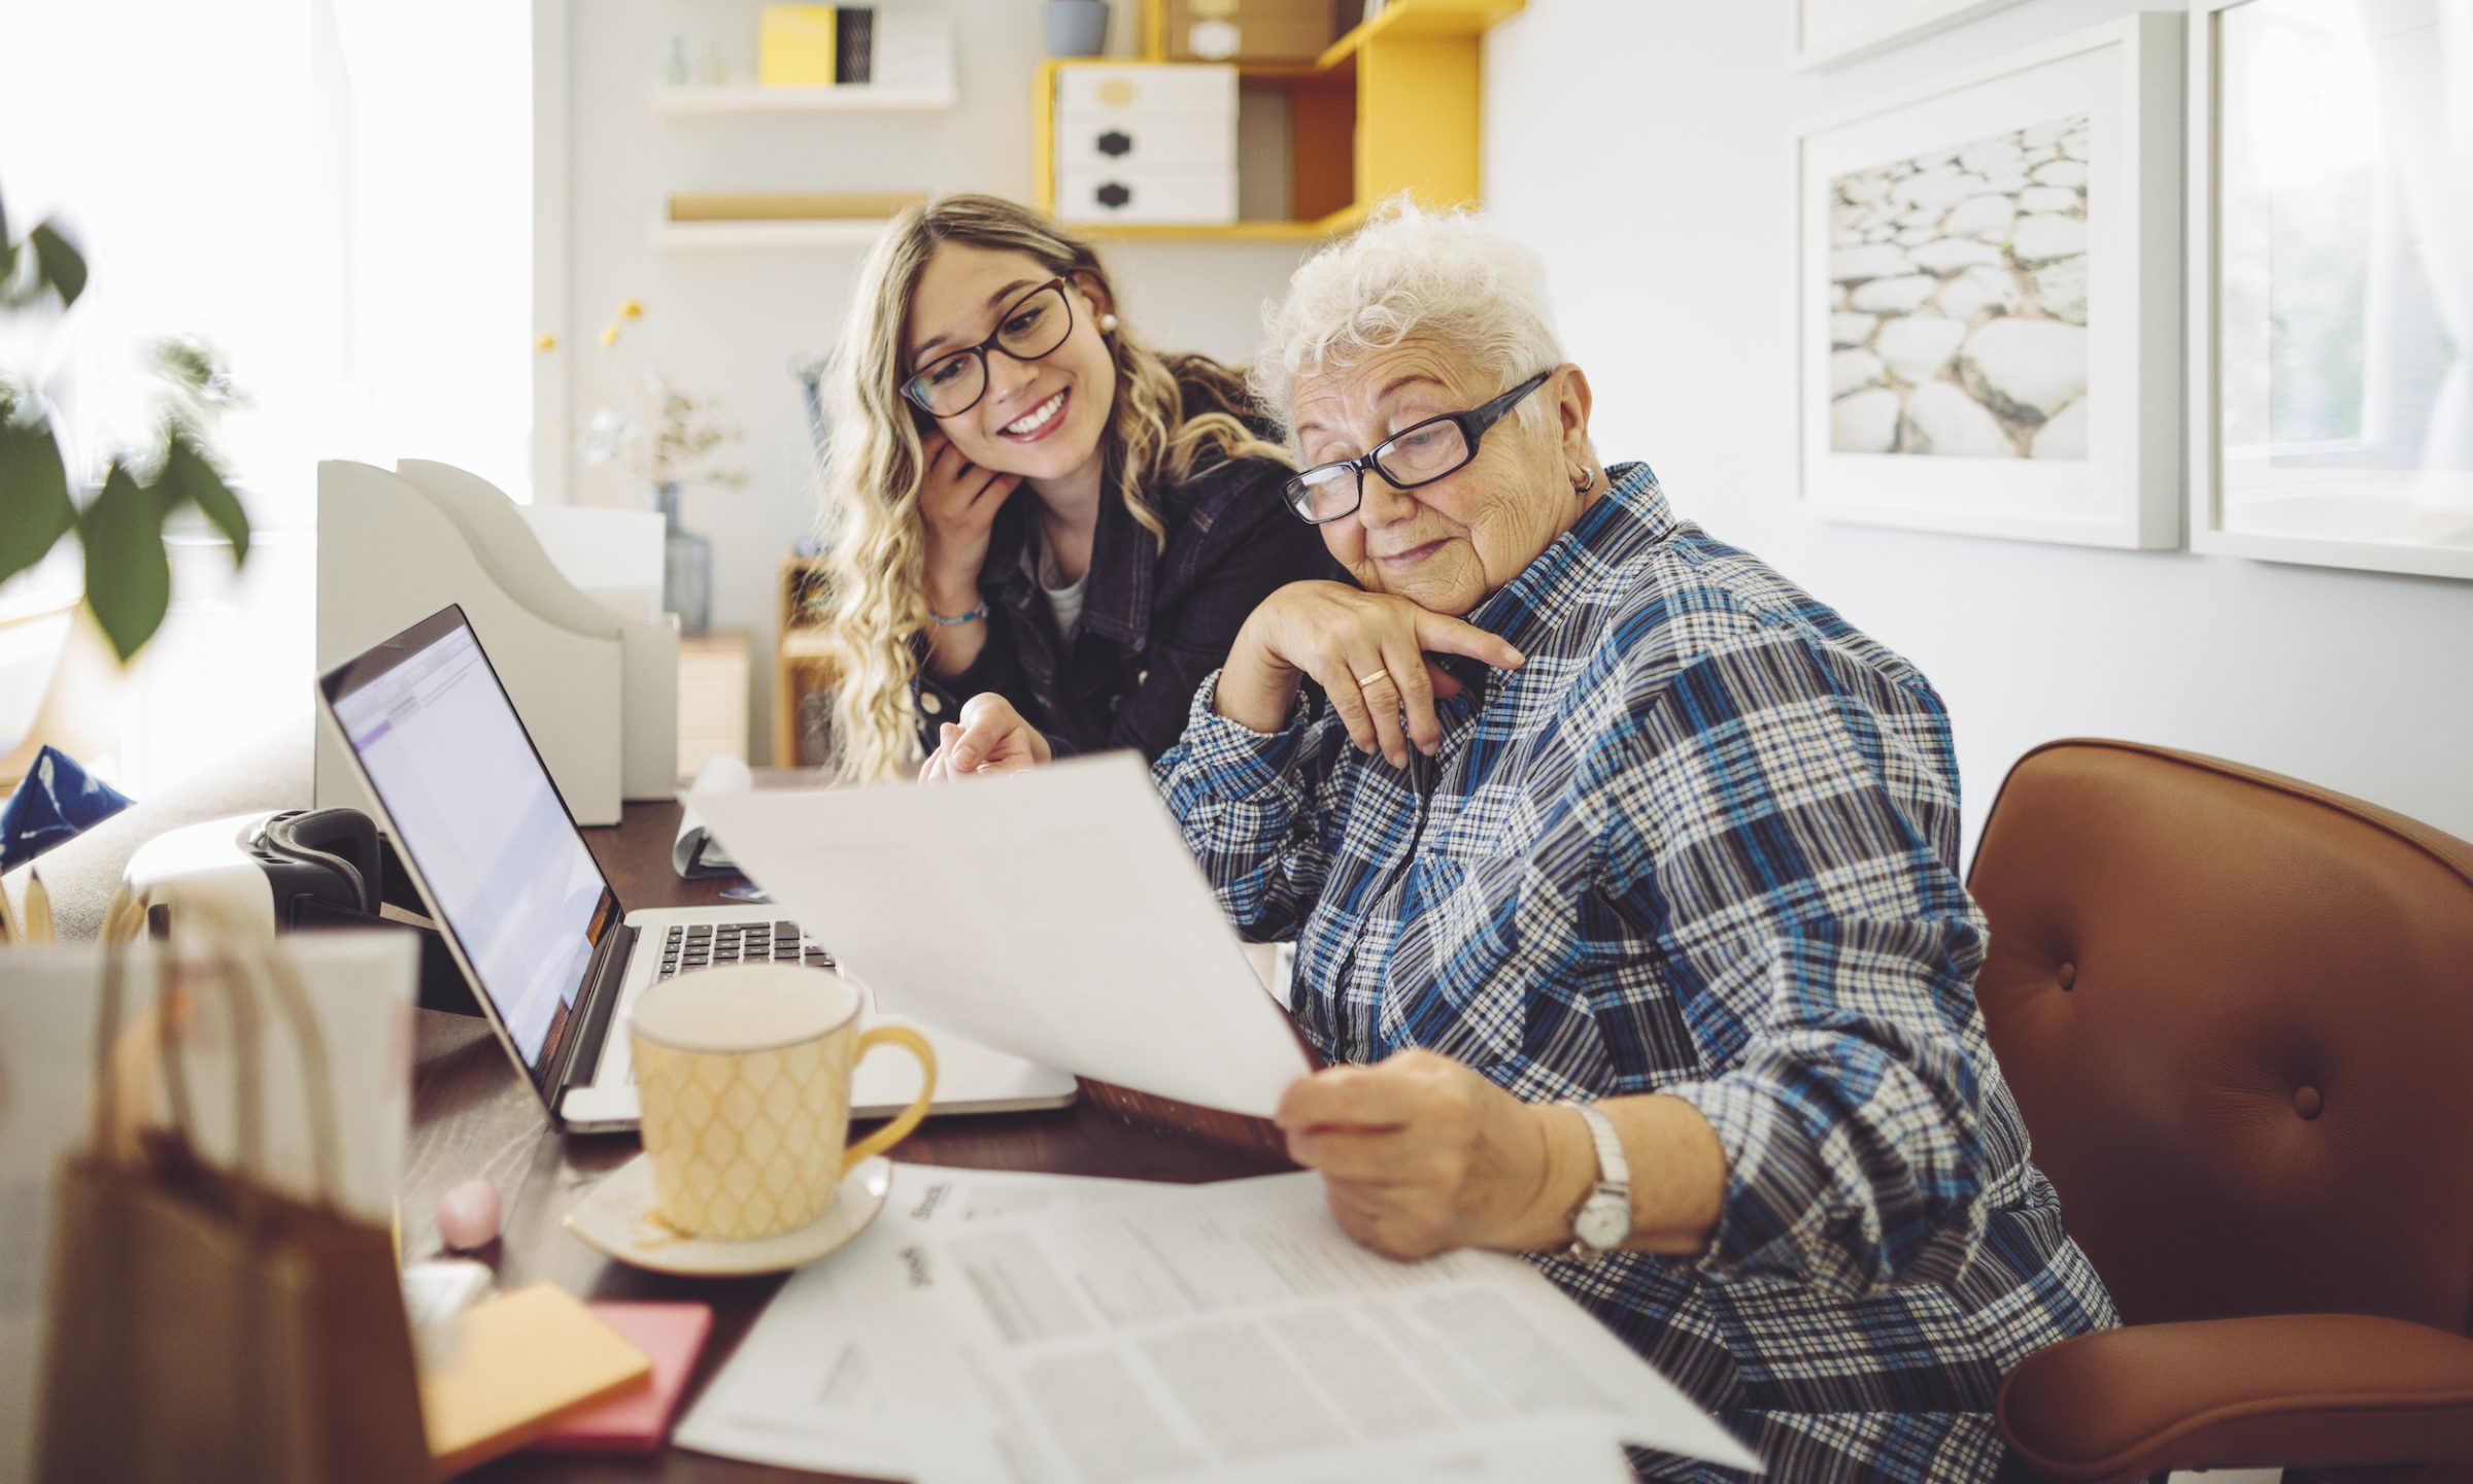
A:
{"label": "printed papers lying spread on the table in front of the mug", "polygon": [[1758,1469],[1533,1266],[1375,1256],[1316,1175],[922,1165],[781,1289],[675,1442],[917,1484],[1612,1484],[1625,1442]]}

